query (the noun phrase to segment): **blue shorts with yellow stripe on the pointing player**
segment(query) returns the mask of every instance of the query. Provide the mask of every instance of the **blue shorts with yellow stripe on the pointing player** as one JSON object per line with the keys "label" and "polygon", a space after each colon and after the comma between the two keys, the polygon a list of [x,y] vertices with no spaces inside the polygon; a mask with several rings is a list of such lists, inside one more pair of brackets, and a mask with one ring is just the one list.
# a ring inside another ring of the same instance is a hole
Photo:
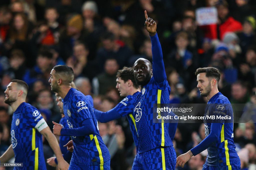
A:
{"label": "blue shorts with yellow stripe on the pointing player", "polygon": [[169,146],[138,153],[134,158],[132,170],[175,170],[175,166],[176,152],[173,146]]}

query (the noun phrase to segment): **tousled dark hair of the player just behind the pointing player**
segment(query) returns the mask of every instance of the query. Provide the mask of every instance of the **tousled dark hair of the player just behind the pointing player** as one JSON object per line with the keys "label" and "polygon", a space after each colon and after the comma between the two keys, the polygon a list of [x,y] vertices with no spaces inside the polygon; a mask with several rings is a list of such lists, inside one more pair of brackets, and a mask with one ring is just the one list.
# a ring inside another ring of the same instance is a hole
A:
{"label": "tousled dark hair of the player just behind the pointing player", "polygon": [[139,85],[135,81],[134,73],[133,73],[133,68],[131,67],[123,67],[122,70],[118,70],[116,74],[117,78],[120,78],[121,80],[126,83],[128,80],[131,80],[133,83],[134,88],[139,88]]}

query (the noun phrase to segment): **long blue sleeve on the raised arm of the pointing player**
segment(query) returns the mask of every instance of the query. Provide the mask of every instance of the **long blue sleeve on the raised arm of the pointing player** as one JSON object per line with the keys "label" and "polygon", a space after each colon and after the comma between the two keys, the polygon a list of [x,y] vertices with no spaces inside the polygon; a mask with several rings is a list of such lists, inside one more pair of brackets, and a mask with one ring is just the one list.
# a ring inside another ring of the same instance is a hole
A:
{"label": "long blue sleeve on the raised arm of the pointing player", "polygon": [[162,48],[157,34],[151,36],[150,38],[152,43],[153,55],[153,76],[159,83],[161,83],[166,79]]}

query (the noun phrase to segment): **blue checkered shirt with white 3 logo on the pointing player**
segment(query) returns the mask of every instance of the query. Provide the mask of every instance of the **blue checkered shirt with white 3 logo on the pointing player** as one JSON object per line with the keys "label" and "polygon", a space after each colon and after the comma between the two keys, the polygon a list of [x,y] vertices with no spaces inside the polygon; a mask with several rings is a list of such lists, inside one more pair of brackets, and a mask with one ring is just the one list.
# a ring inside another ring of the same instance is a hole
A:
{"label": "blue checkered shirt with white 3 logo on the pointing player", "polygon": [[[158,89],[161,91],[161,103],[169,103],[170,86],[167,80],[157,83],[154,77],[145,85],[137,96],[133,114],[138,133],[138,153],[161,147],[162,124],[153,123],[153,105],[157,103]],[[144,93],[144,94],[143,94]],[[164,146],[172,146],[168,133],[168,123],[164,123]]]}

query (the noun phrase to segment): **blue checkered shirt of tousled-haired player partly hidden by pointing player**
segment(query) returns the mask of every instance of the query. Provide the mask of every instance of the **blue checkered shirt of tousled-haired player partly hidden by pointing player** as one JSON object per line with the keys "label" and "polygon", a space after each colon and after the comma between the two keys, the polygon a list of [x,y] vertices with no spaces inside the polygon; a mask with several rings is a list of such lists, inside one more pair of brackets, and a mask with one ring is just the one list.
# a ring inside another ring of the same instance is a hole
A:
{"label": "blue checkered shirt of tousled-haired player partly hidden by pointing player", "polygon": [[133,108],[134,108],[135,100],[139,93],[140,92],[137,91],[132,96],[131,95],[127,96],[120,103],[118,103],[118,105],[116,105],[116,107],[114,108],[121,116],[127,116],[131,131],[132,131],[132,137],[136,146],[138,142],[138,135],[137,135],[135,124],[131,116],[135,119],[135,116],[133,115]]}

